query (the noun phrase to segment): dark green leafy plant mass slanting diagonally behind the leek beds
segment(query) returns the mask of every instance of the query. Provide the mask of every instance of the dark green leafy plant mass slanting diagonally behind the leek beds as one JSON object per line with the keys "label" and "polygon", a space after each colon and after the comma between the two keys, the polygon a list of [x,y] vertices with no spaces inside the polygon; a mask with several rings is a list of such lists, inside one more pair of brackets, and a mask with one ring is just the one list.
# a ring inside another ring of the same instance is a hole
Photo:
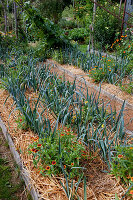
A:
{"label": "dark green leafy plant mass slanting diagonally behind the leek beds", "polygon": [[68,38],[64,35],[64,31],[49,19],[43,18],[40,12],[34,7],[31,7],[28,2],[25,3],[24,9],[24,19],[27,20],[29,27],[33,25],[37,31],[41,32],[40,37],[42,39],[43,37],[46,38],[49,48],[51,46],[70,44]]}

